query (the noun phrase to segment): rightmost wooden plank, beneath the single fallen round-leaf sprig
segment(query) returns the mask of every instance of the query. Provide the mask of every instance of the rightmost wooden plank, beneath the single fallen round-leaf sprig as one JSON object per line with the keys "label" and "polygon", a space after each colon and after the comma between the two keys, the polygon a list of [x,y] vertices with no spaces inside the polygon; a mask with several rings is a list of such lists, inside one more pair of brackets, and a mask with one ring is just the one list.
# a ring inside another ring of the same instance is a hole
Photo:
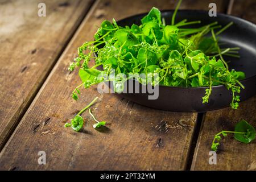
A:
{"label": "rightmost wooden plank, beneath the single fallen round-leaf sprig", "polygon": [[[256,23],[256,1],[240,1],[233,3],[230,14],[240,16]],[[214,135],[221,130],[234,130],[234,126],[241,119],[245,119],[256,127],[256,96],[242,102],[237,110],[230,108],[208,112],[201,125],[201,131],[192,170],[256,170],[256,141],[243,144],[227,137],[222,140],[220,152],[217,154],[217,165],[208,163],[210,145]]]}

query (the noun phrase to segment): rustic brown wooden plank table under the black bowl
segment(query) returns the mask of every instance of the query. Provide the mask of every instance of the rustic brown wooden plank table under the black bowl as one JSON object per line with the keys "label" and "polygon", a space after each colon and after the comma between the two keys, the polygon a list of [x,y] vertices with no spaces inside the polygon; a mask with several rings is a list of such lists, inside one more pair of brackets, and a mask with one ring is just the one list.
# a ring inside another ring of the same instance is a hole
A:
{"label": "rustic brown wooden plank table under the black bowl", "polygon": [[[222,141],[217,164],[208,163],[214,134],[232,130],[241,118],[256,126],[256,97],[238,110],[204,114],[154,110],[99,94],[96,87],[83,89],[79,101],[70,97],[80,80],[67,67],[102,20],[152,6],[174,9],[176,1],[44,1],[46,17],[38,16],[40,2],[0,1],[0,169],[256,169],[256,142],[242,144],[231,136]],[[208,10],[210,2],[221,13],[256,23],[254,0],[184,0],[180,9]],[[96,96],[93,111],[108,121],[109,130],[94,130],[88,112],[82,114],[81,133],[65,129],[64,123]],[[46,165],[38,164],[39,151],[46,152]]]}

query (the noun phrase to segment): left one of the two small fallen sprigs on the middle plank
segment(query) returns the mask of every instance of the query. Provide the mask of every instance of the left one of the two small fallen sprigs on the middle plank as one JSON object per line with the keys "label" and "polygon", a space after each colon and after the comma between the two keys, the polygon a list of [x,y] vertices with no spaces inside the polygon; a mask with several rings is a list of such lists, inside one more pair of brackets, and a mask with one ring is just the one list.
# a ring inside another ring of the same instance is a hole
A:
{"label": "left one of the two small fallen sprigs on the middle plank", "polygon": [[80,131],[82,129],[82,126],[84,126],[84,119],[81,117],[81,114],[90,106],[92,106],[97,101],[97,99],[98,97],[94,98],[94,100],[90,102],[90,104],[84,107],[84,109],[79,111],[79,113],[73,119],[71,119],[71,123],[65,123],[64,127],[72,127],[73,130],[77,132]]}

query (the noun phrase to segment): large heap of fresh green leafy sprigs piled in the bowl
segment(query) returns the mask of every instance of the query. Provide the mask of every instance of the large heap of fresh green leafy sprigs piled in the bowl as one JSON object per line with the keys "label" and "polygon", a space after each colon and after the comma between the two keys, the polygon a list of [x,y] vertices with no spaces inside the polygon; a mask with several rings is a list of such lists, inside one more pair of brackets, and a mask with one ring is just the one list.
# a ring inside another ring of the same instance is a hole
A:
{"label": "large heap of fresh green leafy sprigs piled in the bowl", "polygon": [[[141,19],[140,25],[121,27],[114,19],[112,22],[104,20],[94,35],[94,41],[79,47],[78,56],[69,66],[69,71],[80,67],[82,81],[72,97],[75,100],[79,98],[81,86],[89,88],[103,81],[113,81],[115,92],[121,93],[123,83],[134,78],[144,85],[206,86],[203,103],[209,101],[212,86],[225,85],[232,92],[230,106],[237,109],[238,94],[244,88],[239,80],[245,78],[245,73],[229,70],[223,56],[239,57],[239,48],[220,47],[218,37],[233,23],[222,28],[217,22],[188,28],[192,24],[200,24],[200,20],[188,22],[184,19],[176,23],[180,3],[172,15],[171,25],[166,24],[155,7]],[[88,63],[93,59],[96,65],[89,68]],[[103,71],[96,69],[100,65]],[[118,73],[126,77],[118,77]],[[141,73],[146,78],[140,76]]]}

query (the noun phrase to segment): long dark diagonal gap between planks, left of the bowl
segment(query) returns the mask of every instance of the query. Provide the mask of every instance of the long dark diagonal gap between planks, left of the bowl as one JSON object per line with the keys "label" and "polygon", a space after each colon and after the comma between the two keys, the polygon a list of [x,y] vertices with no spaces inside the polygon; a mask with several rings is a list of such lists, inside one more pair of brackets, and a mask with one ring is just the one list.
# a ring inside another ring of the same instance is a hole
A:
{"label": "long dark diagonal gap between planks, left of the bowl", "polygon": [[53,60],[53,63],[51,65],[51,67],[48,69],[48,71],[46,72],[46,75],[44,75],[43,80],[41,82],[39,82],[38,87],[36,88],[35,92],[32,93],[32,96],[29,98],[29,100],[27,101],[27,103],[24,105],[24,107],[22,108],[22,105],[19,107],[18,110],[18,118],[16,118],[16,121],[14,122],[13,126],[11,127],[11,129],[9,130],[8,134],[6,135],[5,139],[3,139],[2,144],[0,145],[0,152],[2,151],[3,147],[5,147],[6,143],[8,142],[8,140],[10,139],[11,135],[14,133],[16,127],[19,125],[19,122],[21,121],[21,119],[23,118],[24,114],[26,113],[26,111],[28,110],[28,107],[31,106],[32,102],[35,100],[37,94],[39,93],[39,91],[42,89],[44,82],[46,82],[47,78],[49,77],[50,73],[52,72],[52,69],[55,67],[55,65],[57,64],[57,61],[60,59],[61,55],[63,54],[63,52],[65,51],[65,49],[67,48],[69,42],[71,42],[73,36],[76,34],[76,32],[79,30],[81,23],[84,21],[84,19],[86,18],[86,15],[89,13],[90,9],[97,4],[98,0],[93,0],[90,1],[90,4],[88,5],[88,9],[86,11],[84,11],[83,14],[81,14],[80,19],[78,19],[78,23],[75,26],[75,29],[71,32],[71,34],[69,34],[68,39],[66,40],[66,42],[64,42],[63,47],[61,48],[60,52],[58,53],[58,55],[56,56],[56,58]]}

